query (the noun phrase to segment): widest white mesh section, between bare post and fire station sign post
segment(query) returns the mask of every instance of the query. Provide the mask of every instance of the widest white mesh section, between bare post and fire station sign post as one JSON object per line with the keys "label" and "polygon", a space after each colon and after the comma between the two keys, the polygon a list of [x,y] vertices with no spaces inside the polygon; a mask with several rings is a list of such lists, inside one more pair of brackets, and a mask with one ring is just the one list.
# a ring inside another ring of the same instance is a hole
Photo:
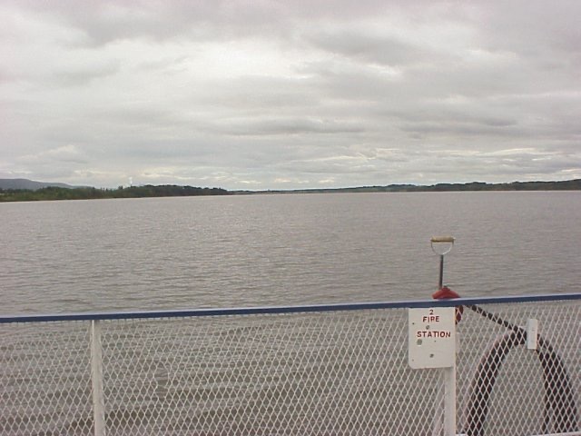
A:
{"label": "widest white mesh section, between bare post and fire station sign post", "polygon": [[405,310],[110,322],[103,328],[107,427],[111,434],[424,434],[438,378],[401,364],[406,341]]}

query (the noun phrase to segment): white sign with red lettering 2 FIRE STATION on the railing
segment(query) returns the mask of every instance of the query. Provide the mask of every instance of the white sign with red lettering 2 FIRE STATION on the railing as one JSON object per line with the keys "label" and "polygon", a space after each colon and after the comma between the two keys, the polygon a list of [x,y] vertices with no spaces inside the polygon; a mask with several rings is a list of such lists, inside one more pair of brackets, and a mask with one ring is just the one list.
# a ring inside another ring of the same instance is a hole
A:
{"label": "white sign with red lettering 2 FIRE STATION on the railing", "polygon": [[409,366],[450,368],[456,360],[456,309],[409,309]]}

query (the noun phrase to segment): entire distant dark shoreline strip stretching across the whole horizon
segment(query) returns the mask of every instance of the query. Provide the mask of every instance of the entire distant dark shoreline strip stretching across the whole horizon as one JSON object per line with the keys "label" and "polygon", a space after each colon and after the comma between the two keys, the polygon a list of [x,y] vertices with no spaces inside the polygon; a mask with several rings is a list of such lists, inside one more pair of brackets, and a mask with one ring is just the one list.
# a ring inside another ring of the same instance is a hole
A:
{"label": "entire distant dark shoreline strip stretching across the whole horizon", "polygon": [[249,195],[290,193],[449,193],[449,192],[501,192],[501,191],[581,191],[581,179],[560,182],[513,183],[437,183],[433,185],[389,184],[386,186],[360,186],[351,188],[322,188],[265,191],[227,191],[222,188],[200,188],[173,184],[120,186],[117,189],[93,187],[63,187],[62,183],[38,189],[3,189],[0,185],[0,203],[34,202],[52,200],[96,200],[104,198],[152,198],[207,195]]}

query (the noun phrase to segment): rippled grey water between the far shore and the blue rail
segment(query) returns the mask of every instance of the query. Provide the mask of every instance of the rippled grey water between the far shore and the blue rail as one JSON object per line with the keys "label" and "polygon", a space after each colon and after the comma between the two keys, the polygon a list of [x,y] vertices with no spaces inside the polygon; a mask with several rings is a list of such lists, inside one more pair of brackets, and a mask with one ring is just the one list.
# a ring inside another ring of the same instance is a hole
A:
{"label": "rippled grey water between the far shore and the blue rail", "polygon": [[1,313],[580,292],[581,193],[334,193],[0,204]]}

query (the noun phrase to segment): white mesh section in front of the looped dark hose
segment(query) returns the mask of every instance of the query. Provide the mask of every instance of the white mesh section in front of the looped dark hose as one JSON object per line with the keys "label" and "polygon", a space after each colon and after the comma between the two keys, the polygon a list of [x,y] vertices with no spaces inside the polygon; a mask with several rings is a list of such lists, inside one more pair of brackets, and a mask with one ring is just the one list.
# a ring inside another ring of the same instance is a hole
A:
{"label": "white mesh section in front of the looped dark hose", "polygon": [[[581,304],[480,309],[493,316],[465,310],[458,325],[458,424],[474,435],[581,434]],[[538,322],[537,351],[527,350],[529,319]]]}

